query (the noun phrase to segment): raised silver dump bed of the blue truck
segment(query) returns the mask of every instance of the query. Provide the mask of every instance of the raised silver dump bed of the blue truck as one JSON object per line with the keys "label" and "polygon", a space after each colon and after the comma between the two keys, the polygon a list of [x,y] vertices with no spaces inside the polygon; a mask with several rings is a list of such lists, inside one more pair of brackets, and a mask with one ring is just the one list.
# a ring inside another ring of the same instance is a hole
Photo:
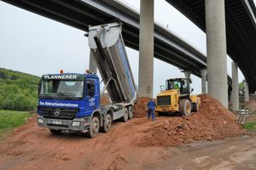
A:
{"label": "raised silver dump bed of the blue truck", "polygon": [[90,26],[88,41],[112,103],[135,103],[137,86],[121,31],[121,23]]}

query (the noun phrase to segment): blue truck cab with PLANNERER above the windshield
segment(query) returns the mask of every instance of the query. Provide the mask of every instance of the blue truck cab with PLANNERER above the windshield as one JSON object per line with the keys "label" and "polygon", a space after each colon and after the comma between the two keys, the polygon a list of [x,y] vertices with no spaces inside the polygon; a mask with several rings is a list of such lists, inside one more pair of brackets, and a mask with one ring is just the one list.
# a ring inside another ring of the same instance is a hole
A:
{"label": "blue truck cab with PLANNERER above the windshield", "polygon": [[84,131],[100,108],[99,78],[90,74],[43,75],[38,83],[38,126],[52,133]]}

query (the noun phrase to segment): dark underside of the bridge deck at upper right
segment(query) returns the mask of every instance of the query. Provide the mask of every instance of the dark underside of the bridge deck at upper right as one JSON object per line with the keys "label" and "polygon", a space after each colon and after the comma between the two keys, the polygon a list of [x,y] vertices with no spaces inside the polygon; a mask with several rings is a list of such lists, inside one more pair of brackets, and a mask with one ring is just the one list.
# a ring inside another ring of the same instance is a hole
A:
{"label": "dark underside of the bridge deck at upper right", "polygon": [[[206,31],[204,0],[166,0],[166,2],[177,8],[202,31]],[[238,63],[250,93],[256,91],[255,15],[253,0],[225,0],[227,54]]]}

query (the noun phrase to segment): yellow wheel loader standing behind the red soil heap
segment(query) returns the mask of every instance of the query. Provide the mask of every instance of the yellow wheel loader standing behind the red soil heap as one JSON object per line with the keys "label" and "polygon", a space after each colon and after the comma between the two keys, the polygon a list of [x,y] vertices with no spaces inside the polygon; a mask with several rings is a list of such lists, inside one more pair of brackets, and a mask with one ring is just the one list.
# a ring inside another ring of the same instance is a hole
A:
{"label": "yellow wheel loader standing behind the red soil heap", "polygon": [[[189,82],[191,83],[190,79]],[[156,96],[157,108],[155,111],[159,116],[189,116],[191,111],[199,110],[201,99],[196,95],[190,95],[189,82],[187,78],[183,77],[166,80],[166,90]]]}

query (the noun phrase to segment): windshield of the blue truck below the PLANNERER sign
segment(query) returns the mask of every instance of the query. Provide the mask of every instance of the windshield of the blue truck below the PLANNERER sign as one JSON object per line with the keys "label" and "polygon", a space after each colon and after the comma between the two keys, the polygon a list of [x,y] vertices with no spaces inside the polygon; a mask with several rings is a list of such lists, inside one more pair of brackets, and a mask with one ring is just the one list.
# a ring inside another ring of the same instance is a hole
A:
{"label": "windshield of the blue truck below the PLANNERER sign", "polygon": [[43,80],[39,98],[79,99],[84,94],[83,80]]}

